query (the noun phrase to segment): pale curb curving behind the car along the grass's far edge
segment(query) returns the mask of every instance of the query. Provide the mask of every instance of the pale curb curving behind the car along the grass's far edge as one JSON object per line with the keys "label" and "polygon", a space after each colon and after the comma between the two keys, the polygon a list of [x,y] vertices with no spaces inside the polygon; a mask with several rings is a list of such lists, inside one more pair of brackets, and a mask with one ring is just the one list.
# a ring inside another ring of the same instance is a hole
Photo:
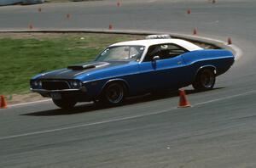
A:
{"label": "pale curb curving behind the car along the grass's far edge", "polygon": [[171,33],[167,31],[128,31],[128,30],[104,30],[104,29],[60,29],[60,30],[0,30],[0,33],[106,33],[106,34],[125,34],[125,35],[150,35],[150,34],[169,34],[174,38],[181,38],[192,42],[202,42],[212,44],[218,48],[230,50],[235,59],[241,59],[242,51],[236,45],[228,45],[227,42],[212,39],[204,36],[192,36],[178,33]]}

